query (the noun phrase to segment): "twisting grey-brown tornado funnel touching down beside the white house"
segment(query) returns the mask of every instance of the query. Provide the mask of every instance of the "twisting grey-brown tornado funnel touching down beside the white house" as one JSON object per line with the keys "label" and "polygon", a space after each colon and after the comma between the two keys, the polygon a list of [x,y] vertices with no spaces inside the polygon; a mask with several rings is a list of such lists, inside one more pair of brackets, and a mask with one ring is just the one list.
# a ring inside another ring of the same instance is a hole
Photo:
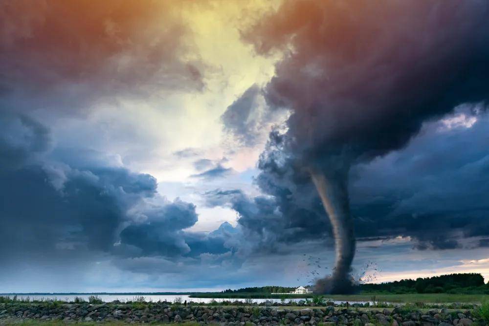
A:
{"label": "twisting grey-brown tornado funnel touching down beside the white house", "polygon": [[355,256],[353,219],[350,215],[347,182],[344,177],[330,176],[311,170],[311,178],[333,228],[336,261],[331,277],[316,282],[316,293],[348,293],[352,290],[349,276]]}

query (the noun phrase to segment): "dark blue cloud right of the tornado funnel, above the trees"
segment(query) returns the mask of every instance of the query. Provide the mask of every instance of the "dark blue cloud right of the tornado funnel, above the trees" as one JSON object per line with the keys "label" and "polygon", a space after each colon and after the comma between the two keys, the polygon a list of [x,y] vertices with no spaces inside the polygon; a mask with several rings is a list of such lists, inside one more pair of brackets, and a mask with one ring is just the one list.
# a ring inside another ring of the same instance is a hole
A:
{"label": "dark blue cloud right of the tornado funnel, above the trees", "polygon": [[446,249],[489,234],[489,116],[461,108],[447,117],[456,118],[477,121],[449,130],[443,120],[428,124],[402,151],[354,168],[360,236],[399,234],[418,248]]}

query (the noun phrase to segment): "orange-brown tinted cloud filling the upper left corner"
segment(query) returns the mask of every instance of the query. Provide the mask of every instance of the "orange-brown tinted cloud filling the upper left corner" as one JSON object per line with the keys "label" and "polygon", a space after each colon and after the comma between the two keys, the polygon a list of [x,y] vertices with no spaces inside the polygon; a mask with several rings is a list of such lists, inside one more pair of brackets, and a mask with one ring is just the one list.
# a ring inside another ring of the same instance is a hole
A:
{"label": "orange-brown tinted cloud filling the upper left corner", "polygon": [[1,99],[16,111],[203,87],[174,2],[8,1],[0,31]]}

